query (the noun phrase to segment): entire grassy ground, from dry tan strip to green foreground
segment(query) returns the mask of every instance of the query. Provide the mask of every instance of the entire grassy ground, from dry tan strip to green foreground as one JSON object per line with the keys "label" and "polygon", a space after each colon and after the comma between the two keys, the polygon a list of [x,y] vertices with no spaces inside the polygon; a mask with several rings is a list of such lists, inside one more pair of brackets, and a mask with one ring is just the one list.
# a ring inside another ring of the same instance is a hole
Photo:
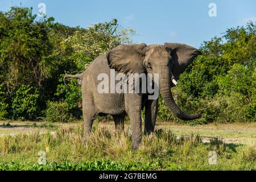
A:
{"label": "entire grassy ground, from dry tan strip to green foreground", "polygon": [[[85,140],[81,121],[0,122],[0,170],[256,170],[256,123],[177,125],[160,123],[131,149],[114,122],[94,123]],[[38,164],[39,151],[46,165]],[[209,151],[217,163],[209,164]]]}

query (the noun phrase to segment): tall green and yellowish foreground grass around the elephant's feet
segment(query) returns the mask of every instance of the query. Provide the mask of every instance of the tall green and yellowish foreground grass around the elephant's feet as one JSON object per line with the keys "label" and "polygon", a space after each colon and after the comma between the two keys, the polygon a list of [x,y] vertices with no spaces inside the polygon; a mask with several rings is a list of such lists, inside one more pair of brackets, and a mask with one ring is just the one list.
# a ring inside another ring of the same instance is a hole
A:
{"label": "tall green and yellowish foreground grass around the elephant's feet", "polygon": [[[86,140],[82,124],[64,125],[52,135],[40,129],[0,137],[0,170],[256,170],[256,147],[199,135],[176,138],[168,129],[143,136],[141,147],[131,149],[130,130],[116,132],[99,123]],[[46,151],[47,164],[38,164]],[[208,163],[209,151],[217,164]]]}

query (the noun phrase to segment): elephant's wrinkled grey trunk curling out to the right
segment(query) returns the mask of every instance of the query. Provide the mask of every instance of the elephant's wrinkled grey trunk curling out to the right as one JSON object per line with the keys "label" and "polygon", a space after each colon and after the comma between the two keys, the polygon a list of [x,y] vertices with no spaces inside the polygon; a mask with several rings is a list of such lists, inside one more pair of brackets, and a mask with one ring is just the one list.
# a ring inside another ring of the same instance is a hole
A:
{"label": "elephant's wrinkled grey trunk curling out to the right", "polygon": [[184,113],[184,111],[180,110],[180,108],[175,103],[171,93],[170,69],[168,69],[167,66],[162,65],[162,67],[160,66],[158,68],[158,73],[159,73],[159,90],[160,90],[160,93],[162,94],[164,102],[166,102],[166,105],[171,110],[171,112],[176,117],[185,121],[200,118],[201,113],[198,113],[195,115]]}

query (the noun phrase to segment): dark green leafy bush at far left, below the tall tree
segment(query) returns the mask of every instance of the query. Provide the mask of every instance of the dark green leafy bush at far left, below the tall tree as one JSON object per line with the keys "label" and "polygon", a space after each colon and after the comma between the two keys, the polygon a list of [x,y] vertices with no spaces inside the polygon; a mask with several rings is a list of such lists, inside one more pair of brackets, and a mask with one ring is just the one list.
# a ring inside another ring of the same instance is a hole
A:
{"label": "dark green leafy bush at far left, below the tall tree", "polygon": [[20,85],[11,100],[13,119],[35,119],[38,113],[39,92],[30,85]]}

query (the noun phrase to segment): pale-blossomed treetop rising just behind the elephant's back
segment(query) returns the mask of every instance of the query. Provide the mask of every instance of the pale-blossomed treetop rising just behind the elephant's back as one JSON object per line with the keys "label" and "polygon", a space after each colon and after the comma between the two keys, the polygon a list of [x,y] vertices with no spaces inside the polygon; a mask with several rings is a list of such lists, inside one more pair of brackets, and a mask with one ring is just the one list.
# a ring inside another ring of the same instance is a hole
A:
{"label": "pale-blossomed treetop rising just behind the elephant's back", "polygon": [[73,51],[74,61],[81,71],[98,55],[108,52],[121,43],[131,43],[134,30],[125,30],[118,26],[117,20],[93,24],[84,31],[76,31],[63,42],[65,49]]}

